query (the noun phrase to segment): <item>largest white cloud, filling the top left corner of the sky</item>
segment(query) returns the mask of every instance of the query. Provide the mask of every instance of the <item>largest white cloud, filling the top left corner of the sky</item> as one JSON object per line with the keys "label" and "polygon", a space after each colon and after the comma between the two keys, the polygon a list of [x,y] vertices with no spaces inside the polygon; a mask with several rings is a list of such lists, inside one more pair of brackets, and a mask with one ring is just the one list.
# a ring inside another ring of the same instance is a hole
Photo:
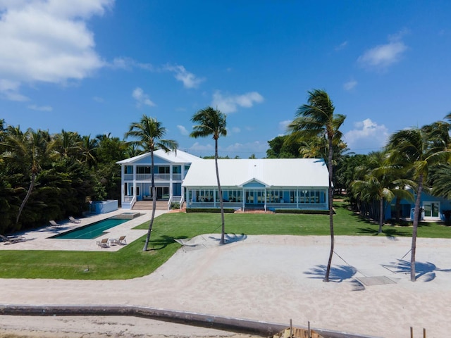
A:
{"label": "largest white cloud, filling the top left corner of the sky", "polygon": [[1,1],[1,79],[62,83],[91,75],[104,61],[85,22],[113,1]]}

